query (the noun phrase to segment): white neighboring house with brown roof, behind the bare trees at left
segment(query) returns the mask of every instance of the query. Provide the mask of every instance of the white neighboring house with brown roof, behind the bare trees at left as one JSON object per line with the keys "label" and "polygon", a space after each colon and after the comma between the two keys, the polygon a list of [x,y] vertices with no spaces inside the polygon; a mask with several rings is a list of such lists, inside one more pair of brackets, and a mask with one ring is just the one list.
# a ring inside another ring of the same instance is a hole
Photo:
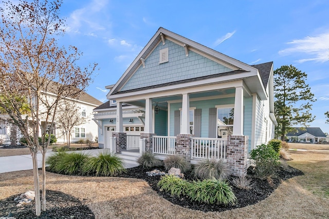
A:
{"label": "white neighboring house with brown roof, behind the bare trees at left", "polygon": [[[47,92],[46,95],[49,97],[55,94]],[[33,101],[33,99],[31,101]],[[81,111],[81,117],[84,117],[87,121],[82,125],[74,127],[74,130],[71,132],[71,142],[74,143],[78,142],[79,140],[95,141],[95,137],[98,137],[98,129],[97,125],[92,121],[93,109],[102,104],[102,102],[98,101],[98,99],[90,96],[85,92],[82,92],[78,98],[70,98],[67,99],[67,101],[75,103],[75,106],[78,107]],[[42,107],[40,109],[42,109]],[[9,118],[8,115],[0,116]],[[13,135],[14,130],[16,130],[16,139],[19,140],[22,137],[19,129],[13,129],[13,126],[10,123],[0,121],[0,144],[10,144],[11,135]],[[54,125],[54,130],[51,134],[56,135],[57,143],[67,142],[64,130],[58,128],[56,124]]]}

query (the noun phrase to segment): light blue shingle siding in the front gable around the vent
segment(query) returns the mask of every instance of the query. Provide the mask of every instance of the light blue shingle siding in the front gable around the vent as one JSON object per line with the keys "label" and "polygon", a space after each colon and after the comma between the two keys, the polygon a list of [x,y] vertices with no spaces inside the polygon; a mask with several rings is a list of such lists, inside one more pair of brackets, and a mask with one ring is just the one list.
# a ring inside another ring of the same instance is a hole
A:
{"label": "light blue shingle siding in the front gable around the vent", "polygon": [[[159,50],[169,48],[169,62],[159,64]],[[186,57],[184,47],[166,39],[145,59],[145,68],[140,66],[121,91],[148,87],[184,79],[232,71],[210,59],[189,51]]]}

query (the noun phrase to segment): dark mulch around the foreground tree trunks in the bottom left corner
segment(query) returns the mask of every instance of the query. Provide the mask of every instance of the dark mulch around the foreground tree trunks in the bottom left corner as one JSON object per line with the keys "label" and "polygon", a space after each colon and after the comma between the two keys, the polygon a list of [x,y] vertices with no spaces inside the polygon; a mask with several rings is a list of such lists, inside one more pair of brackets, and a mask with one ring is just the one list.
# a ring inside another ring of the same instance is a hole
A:
{"label": "dark mulch around the foreground tree trunks in the bottom left corner", "polygon": [[[25,192],[25,191],[24,191]],[[94,213],[85,205],[81,204],[77,198],[70,196],[68,194],[47,190],[46,200],[47,200],[47,210],[41,211],[39,217],[35,216],[34,200],[24,206],[16,207],[17,203],[14,198],[20,194],[10,196],[5,200],[0,200],[0,217],[8,216],[9,212],[12,213],[13,217],[16,219],[26,218],[95,218]]]}

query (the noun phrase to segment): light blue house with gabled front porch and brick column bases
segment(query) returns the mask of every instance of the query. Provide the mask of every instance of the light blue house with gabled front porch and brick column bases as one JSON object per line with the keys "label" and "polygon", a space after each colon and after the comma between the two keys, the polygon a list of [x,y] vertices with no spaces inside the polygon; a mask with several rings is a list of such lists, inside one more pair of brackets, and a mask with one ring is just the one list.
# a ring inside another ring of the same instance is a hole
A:
{"label": "light blue house with gabled front porch and brick column bases", "polygon": [[250,66],[163,28],[106,88],[111,101],[94,110],[99,145],[119,153],[131,148],[128,127],[143,127],[141,150],[225,158],[243,175],[248,152],[274,137],[272,62]]}

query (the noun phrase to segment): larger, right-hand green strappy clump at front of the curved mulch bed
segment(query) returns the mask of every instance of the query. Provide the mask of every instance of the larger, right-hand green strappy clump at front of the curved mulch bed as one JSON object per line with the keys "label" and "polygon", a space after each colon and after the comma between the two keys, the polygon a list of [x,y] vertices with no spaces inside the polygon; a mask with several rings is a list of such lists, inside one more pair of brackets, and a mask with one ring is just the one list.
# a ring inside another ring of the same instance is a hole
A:
{"label": "larger, right-hand green strappy clump at front of the curved mulch bed", "polygon": [[236,197],[232,188],[224,181],[215,178],[193,181],[187,187],[187,195],[192,201],[207,204],[234,204]]}

